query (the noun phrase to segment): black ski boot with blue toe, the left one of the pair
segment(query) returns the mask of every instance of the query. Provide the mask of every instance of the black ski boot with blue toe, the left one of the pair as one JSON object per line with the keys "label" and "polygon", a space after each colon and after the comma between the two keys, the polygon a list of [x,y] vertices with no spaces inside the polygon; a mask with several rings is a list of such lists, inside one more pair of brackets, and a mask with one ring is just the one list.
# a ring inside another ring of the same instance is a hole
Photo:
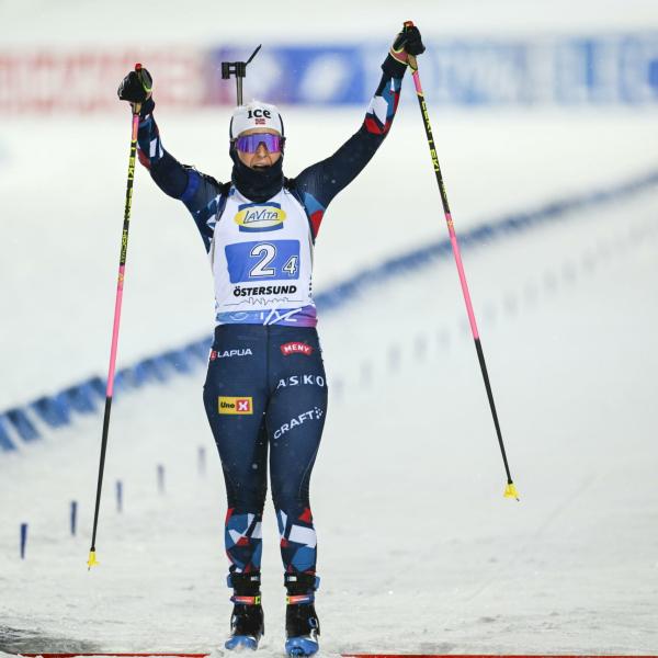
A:
{"label": "black ski boot with blue toe, the left one of the pair", "polygon": [[256,650],[261,635],[265,633],[260,574],[229,574],[227,582],[228,587],[234,588],[230,598],[234,611],[230,615],[230,637],[224,646],[229,650]]}

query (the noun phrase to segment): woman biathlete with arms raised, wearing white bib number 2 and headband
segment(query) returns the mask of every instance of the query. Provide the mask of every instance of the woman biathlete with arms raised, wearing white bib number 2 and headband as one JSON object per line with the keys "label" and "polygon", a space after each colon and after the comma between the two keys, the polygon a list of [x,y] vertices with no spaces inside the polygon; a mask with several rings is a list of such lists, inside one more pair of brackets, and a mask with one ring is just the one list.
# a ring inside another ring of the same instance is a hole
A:
{"label": "woman biathlete with arms raised, wearing white bib number 2 and headband", "polygon": [[[234,612],[226,648],[256,649],[263,634],[261,520],[268,484],[287,590],[286,653],[318,649],[316,532],[309,480],[327,411],[327,379],[311,293],[313,250],[331,200],[367,164],[388,133],[407,56],[424,50],[400,32],[360,129],[330,158],[283,175],[285,134],[274,105],[239,106],[230,121],[230,182],[178,162],[154,118],[151,79],[131,71],[118,98],[139,104],[139,160],[192,214],[215,280],[216,327],[203,400],[226,481],[225,542]],[[134,107],[136,109],[136,107]]]}

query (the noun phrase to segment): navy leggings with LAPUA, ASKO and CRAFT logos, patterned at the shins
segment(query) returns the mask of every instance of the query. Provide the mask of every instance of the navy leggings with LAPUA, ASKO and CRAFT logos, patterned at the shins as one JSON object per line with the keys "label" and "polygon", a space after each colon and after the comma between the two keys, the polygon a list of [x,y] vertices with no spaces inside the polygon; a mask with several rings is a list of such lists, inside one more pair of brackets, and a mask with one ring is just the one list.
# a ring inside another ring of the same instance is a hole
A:
{"label": "navy leggings with LAPUA, ASKO and CRAFT logos, patterned at the shins", "polygon": [[216,327],[203,399],[226,483],[229,574],[260,570],[268,453],[284,571],[315,574],[308,489],[327,411],[317,331]]}

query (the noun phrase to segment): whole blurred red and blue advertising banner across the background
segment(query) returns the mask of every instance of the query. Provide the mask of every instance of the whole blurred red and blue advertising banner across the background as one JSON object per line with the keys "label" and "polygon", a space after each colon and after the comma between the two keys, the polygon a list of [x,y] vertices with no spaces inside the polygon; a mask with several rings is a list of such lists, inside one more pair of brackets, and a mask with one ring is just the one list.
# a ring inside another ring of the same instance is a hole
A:
{"label": "whole blurred red and blue advertising banner across the background", "polygon": [[[254,44],[257,45],[257,44]],[[245,99],[280,104],[367,103],[387,46],[266,44],[247,69]],[[116,87],[139,60],[157,101],[193,109],[232,105],[222,61],[252,47],[7,52],[0,49],[0,113],[89,113],[116,107]],[[658,33],[543,39],[428,41],[426,95],[457,106],[658,103]]]}

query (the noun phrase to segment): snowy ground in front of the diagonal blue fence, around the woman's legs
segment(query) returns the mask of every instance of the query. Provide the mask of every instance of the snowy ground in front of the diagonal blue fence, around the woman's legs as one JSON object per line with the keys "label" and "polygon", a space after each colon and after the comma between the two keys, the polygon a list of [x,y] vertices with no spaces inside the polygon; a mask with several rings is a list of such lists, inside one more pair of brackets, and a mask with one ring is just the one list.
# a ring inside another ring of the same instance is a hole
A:
{"label": "snowy ground in front of the diagonal blue fence, around the woman's legs", "polygon": [[[324,322],[331,381],[342,383],[314,478],[324,653],[656,651],[657,200],[465,253],[521,503],[501,496],[449,262]],[[89,536],[67,536],[67,513],[79,500],[89,527],[100,419],[3,457],[0,619],[14,629],[5,650],[220,646],[225,507],[216,461],[196,470],[200,445],[214,456],[202,381],[198,371],[116,405],[92,574]],[[112,504],[116,478],[123,514]],[[272,514],[264,537],[263,654],[280,655]]]}

